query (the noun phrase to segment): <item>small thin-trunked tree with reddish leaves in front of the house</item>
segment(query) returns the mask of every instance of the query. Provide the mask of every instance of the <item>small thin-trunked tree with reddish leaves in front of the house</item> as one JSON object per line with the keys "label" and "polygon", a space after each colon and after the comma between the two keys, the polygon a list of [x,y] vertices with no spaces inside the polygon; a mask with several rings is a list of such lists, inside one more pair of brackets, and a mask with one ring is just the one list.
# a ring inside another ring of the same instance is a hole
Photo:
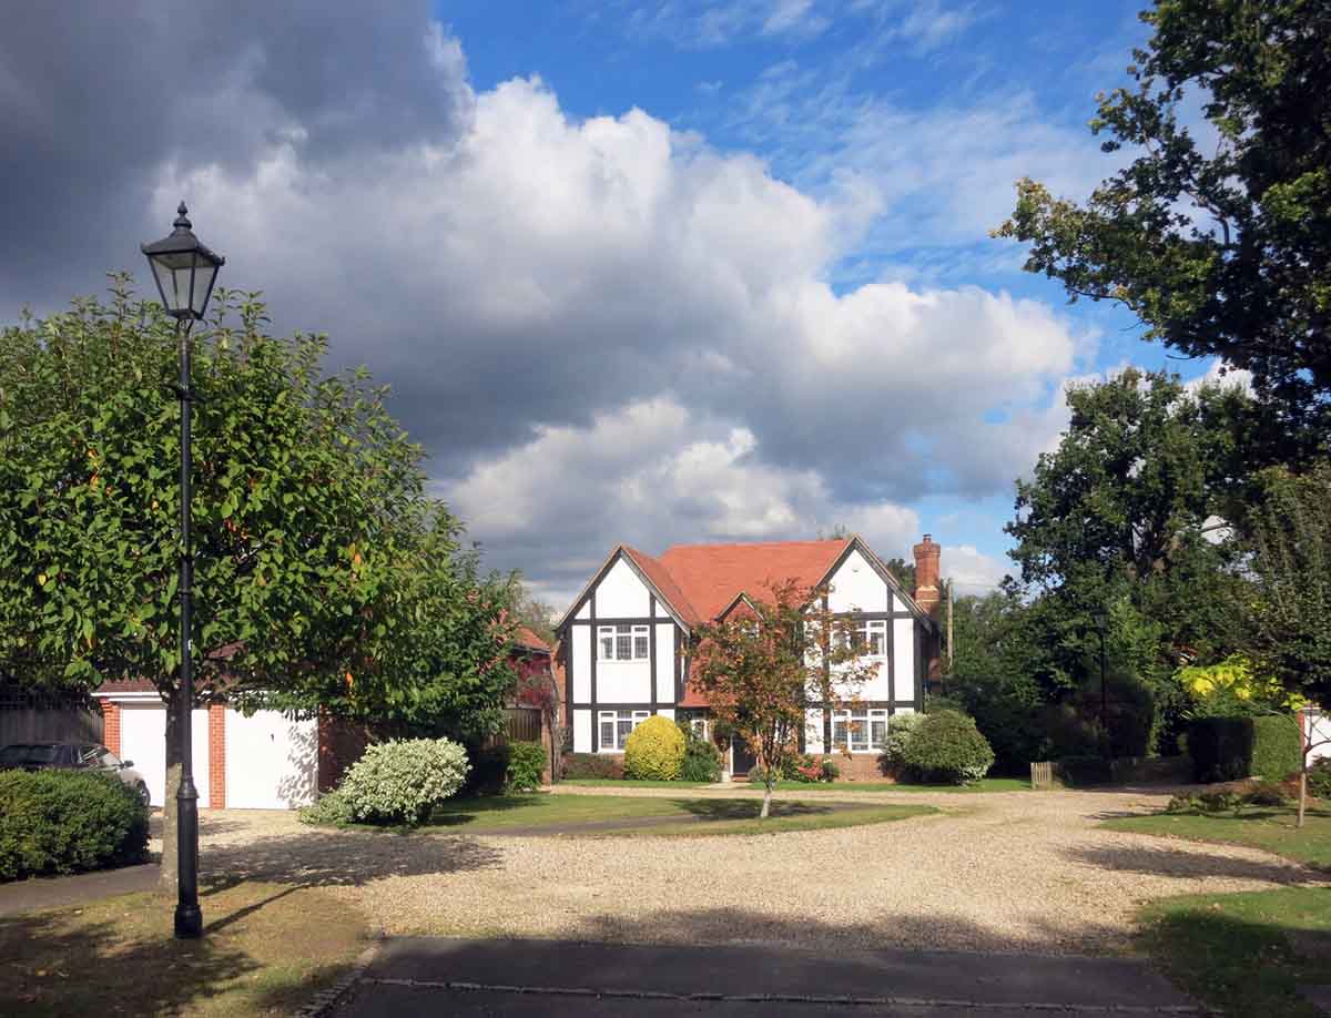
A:
{"label": "small thin-trunked tree with reddish leaves in front of the house", "polygon": [[771,599],[755,600],[752,611],[697,627],[689,677],[717,723],[757,757],[761,817],[771,813],[772,786],[783,766],[799,752],[805,709],[853,703],[877,671],[865,660],[853,623],[823,607],[824,591],[787,580],[769,592]]}

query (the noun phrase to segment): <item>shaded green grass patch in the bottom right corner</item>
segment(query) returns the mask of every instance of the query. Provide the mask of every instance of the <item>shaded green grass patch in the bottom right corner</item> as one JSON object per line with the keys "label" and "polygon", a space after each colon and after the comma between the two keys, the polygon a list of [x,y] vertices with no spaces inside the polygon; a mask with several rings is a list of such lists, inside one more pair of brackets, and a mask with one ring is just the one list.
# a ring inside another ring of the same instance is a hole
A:
{"label": "shaded green grass patch in the bottom right corner", "polygon": [[1141,921],[1138,946],[1219,1014],[1319,1018],[1294,987],[1331,983],[1331,890],[1165,898]]}

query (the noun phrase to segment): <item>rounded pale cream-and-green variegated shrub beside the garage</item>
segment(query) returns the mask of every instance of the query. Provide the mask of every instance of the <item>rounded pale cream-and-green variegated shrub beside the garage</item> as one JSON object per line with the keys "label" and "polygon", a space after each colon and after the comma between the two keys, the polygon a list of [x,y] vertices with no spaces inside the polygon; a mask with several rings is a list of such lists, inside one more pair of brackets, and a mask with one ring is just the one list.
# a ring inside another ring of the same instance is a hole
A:
{"label": "rounded pale cream-and-green variegated shrub beside the garage", "polygon": [[449,739],[393,740],[369,747],[341,790],[355,820],[422,824],[462,788],[469,769],[466,751]]}

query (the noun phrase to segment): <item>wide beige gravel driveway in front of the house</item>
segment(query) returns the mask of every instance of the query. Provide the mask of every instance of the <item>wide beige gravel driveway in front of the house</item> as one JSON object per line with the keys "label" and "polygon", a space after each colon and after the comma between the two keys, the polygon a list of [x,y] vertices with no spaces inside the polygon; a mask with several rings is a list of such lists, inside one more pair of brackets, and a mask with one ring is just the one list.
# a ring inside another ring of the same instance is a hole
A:
{"label": "wide beige gravel driveway in front of the house", "polygon": [[204,814],[204,877],[333,886],[389,934],[1046,954],[1125,949],[1134,909],[1151,898],[1324,882],[1254,849],[1097,828],[1158,809],[1161,794],[851,796],[945,813],[658,840],[399,837],[228,810]]}

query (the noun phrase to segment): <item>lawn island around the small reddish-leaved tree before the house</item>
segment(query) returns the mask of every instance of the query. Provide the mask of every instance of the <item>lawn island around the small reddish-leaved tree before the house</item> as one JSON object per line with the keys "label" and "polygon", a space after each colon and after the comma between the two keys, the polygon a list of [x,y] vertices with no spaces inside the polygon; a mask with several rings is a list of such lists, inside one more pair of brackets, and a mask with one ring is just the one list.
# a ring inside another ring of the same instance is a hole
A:
{"label": "lawn island around the small reddish-leaved tree before the house", "polygon": [[[469,834],[503,834],[528,829],[551,834],[614,837],[696,837],[700,834],[752,834],[783,830],[819,830],[824,828],[881,824],[889,820],[934,813],[932,806],[865,805],[851,809],[836,804],[799,802],[779,798],[772,816],[759,820],[761,801],[745,798],[664,798],[643,796],[552,796],[532,793],[459,798],[435,809],[423,830],[457,830]],[[580,825],[606,821],[662,821],[677,818],[679,824],[652,822],[642,828],[598,830]],[[385,828],[377,828],[383,830]],[[405,828],[389,828],[406,833]]]}

